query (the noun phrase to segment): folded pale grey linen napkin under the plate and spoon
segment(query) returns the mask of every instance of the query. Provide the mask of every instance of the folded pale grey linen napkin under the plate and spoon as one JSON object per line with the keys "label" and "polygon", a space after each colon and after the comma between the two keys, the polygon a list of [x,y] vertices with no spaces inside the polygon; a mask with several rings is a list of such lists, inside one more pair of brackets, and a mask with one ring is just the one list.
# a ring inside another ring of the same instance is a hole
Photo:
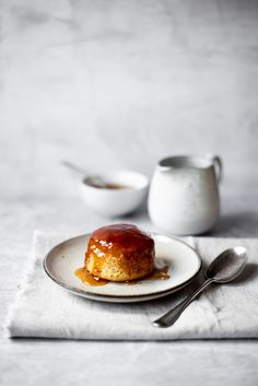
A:
{"label": "folded pale grey linen napkin under the plate and spoon", "polygon": [[69,235],[35,232],[31,269],[10,308],[10,337],[104,340],[258,338],[258,239],[190,237],[207,266],[223,249],[244,245],[249,262],[234,283],[213,285],[166,329],[151,320],[168,311],[203,280],[166,297],[134,304],[98,303],[70,294],[43,270],[43,258]]}

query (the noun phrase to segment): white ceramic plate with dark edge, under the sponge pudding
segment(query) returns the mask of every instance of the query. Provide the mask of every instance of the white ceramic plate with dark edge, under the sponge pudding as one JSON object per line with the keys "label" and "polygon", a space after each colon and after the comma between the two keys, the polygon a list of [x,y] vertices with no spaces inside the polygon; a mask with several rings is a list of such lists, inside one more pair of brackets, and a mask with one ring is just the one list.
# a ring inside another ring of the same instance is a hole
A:
{"label": "white ceramic plate with dark edge, under the sponge pudding", "polygon": [[168,265],[167,280],[142,280],[133,285],[110,282],[103,286],[91,286],[81,282],[74,271],[83,267],[90,235],[70,238],[54,247],[44,260],[46,273],[70,292],[102,302],[131,303],[165,296],[186,285],[200,270],[198,253],[179,239],[152,234],[155,242],[156,260]]}

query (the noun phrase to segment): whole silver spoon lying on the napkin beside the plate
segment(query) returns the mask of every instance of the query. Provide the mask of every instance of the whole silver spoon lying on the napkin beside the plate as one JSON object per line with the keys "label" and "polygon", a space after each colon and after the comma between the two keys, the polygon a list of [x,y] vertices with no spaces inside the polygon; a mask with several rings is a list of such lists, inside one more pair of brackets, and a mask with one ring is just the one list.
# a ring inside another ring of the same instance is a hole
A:
{"label": "whole silver spoon lying on the napkin beside the plate", "polygon": [[155,327],[169,327],[180,316],[183,311],[211,283],[225,284],[236,279],[245,268],[247,262],[247,250],[242,246],[224,250],[208,267],[206,271],[207,280],[191,295],[168,311],[159,319],[152,321]]}

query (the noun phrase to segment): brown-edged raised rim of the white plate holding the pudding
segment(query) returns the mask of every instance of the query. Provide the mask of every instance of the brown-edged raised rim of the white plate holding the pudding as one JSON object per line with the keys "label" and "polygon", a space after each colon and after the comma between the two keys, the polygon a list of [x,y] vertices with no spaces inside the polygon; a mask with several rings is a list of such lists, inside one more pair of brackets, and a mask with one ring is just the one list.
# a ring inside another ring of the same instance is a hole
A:
{"label": "brown-edged raised rim of the white plate holding the pudding", "polygon": [[[174,288],[171,289],[171,290],[157,291],[157,292],[154,292],[154,293],[149,294],[149,295],[148,295],[148,294],[144,294],[144,295],[131,295],[131,294],[130,294],[130,295],[105,295],[105,294],[98,294],[98,293],[87,292],[87,291],[85,291],[85,290],[77,289],[77,288],[74,288],[74,286],[72,286],[72,285],[66,284],[63,281],[60,281],[60,280],[58,280],[56,277],[54,277],[54,276],[51,274],[51,272],[49,271],[48,267],[47,267],[47,260],[48,260],[49,256],[51,255],[52,250],[56,249],[56,248],[58,248],[58,247],[60,247],[62,244],[64,244],[64,243],[67,243],[67,242],[71,242],[71,241],[73,241],[73,239],[75,239],[75,238],[85,237],[85,236],[91,236],[91,233],[83,233],[83,234],[80,234],[80,235],[78,235],[78,236],[73,236],[73,237],[67,238],[67,239],[64,239],[63,242],[58,243],[57,245],[55,245],[55,246],[45,255],[45,257],[44,257],[44,259],[43,259],[43,268],[44,268],[46,274],[47,274],[56,284],[58,284],[58,285],[60,285],[60,286],[62,286],[62,288],[69,290],[69,291],[72,292],[72,293],[79,294],[80,296],[83,296],[83,297],[87,297],[87,296],[89,296],[89,299],[90,299],[90,296],[91,296],[91,297],[92,297],[92,296],[94,296],[94,297],[99,297],[99,301],[101,301],[101,297],[107,297],[107,299],[114,299],[114,300],[115,300],[115,299],[116,299],[116,300],[118,300],[118,299],[120,299],[120,300],[125,299],[125,300],[128,300],[128,301],[129,301],[129,299],[139,299],[139,302],[140,302],[140,299],[141,299],[141,297],[146,297],[146,296],[152,296],[152,295],[154,296],[154,295],[159,295],[159,294],[160,294],[161,296],[165,296],[165,295],[168,295],[168,294],[169,294],[168,291],[172,291],[171,293],[176,292],[176,291],[179,291],[183,286],[187,285],[187,284],[200,272],[201,267],[202,267],[202,259],[201,259],[201,256],[200,256],[199,252],[196,250],[192,246],[190,246],[190,245],[187,244],[186,242],[179,239],[178,237],[171,236],[171,235],[167,235],[167,234],[165,234],[165,233],[163,233],[163,234],[162,234],[162,233],[157,233],[157,232],[148,232],[148,233],[149,233],[150,235],[154,235],[154,236],[165,236],[165,237],[172,238],[173,241],[176,241],[176,242],[178,242],[178,243],[180,243],[180,244],[184,244],[185,246],[187,246],[188,248],[190,248],[190,249],[196,254],[196,256],[197,256],[197,258],[198,258],[199,267],[198,267],[197,271],[196,271],[187,281],[185,281],[184,283],[178,284],[178,285],[174,286]],[[159,296],[159,297],[161,297],[161,296]],[[96,300],[97,300],[97,299],[96,299]],[[151,299],[150,299],[150,300],[151,300]]]}

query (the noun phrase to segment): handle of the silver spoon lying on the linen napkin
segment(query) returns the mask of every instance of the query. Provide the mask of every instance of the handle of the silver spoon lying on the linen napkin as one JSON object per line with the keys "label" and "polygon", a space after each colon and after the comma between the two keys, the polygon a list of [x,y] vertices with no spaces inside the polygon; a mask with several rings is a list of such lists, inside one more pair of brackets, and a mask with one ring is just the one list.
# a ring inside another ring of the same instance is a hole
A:
{"label": "handle of the silver spoon lying on the linen napkin", "polygon": [[206,280],[199,289],[197,289],[192,294],[188,295],[184,301],[181,301],[179,304],[177,304],[174,308],[168,311],[166,314],[157,318],[156,320],[152,321],[152,325],[155,327],[169,327],[174,325],[174,323],[178,319],[180,314],[183,313],[186,307],[201,293],[204,288],[207,288],[210,283],[212,283],[212,279]]}

